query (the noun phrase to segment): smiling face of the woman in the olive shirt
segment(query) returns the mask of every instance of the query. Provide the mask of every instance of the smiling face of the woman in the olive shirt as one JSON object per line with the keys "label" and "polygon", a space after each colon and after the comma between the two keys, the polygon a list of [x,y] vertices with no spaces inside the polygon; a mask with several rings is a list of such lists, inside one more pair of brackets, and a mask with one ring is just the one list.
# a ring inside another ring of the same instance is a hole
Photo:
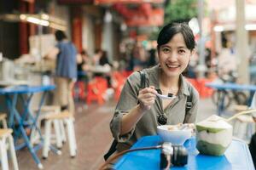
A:
{"label": "smiling face of the woman in the olive shirt", "polygon": [[194,50],[187,48],[183,35],[177,33],[172,39],[158,48],[159,62],[167,77],[179,77],[186,69]]}

